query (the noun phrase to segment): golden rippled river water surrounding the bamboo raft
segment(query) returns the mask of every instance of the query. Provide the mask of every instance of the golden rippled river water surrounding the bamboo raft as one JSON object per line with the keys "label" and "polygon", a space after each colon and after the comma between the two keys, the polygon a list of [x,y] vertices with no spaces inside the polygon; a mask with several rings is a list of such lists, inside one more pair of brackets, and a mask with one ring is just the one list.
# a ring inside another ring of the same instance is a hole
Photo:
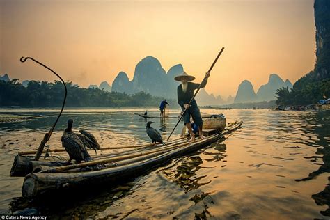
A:
{"label": "golden rippled river water surrounding the bamboo raft", "polygon": [[[149,141],[145,109],[67,109],[50,139],[61,147],[68,118],[101,146]],[[55,120],[56,109],[0,109],[0,114],[45,117],[0,123],[0,213],[26,208],[51,219],[329,219],[330,111],[214,110],[238,129],[194,155],[187,155],[129,182],[86,189],[79,196],[22,198],[24,178],[10,178],[18,150],[36,149]],[[150,109],[150,115],[158,115]],[[178,109],[171,116],[178,116]],[[152,118],[163,136],[176,118]],[[180,135],[182,124],[175,130]],[[92,155],[93,156],[93,155]]]}

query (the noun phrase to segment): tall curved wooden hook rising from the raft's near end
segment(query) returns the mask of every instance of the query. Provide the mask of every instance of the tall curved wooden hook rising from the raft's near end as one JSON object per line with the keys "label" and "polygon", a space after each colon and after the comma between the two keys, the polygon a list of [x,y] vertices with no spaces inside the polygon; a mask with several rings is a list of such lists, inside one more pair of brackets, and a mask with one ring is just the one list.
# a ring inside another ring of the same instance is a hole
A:
{"label": "tall curved wooden hook rising from the raft's near end", "polygon": [[65,85],[65,82],[64,80],[62,79],[62,77],[60,77],[56,72],[54,72],[54,70],[52,70],[51,68],[47,67],[47,65],[43,64],[43,63],[40,63],[39,61],[37,61],[36,59],[32,58],[32,57],[25,57],[22,56],[22,58],[20,58],[19,61],[21,61],[22,63],[24,63],[26,60],[28,59],[31,59],[32,61],[38,63],[39,65],[42,65],[44,68],[47,68],[47,70],[51,71],[52,73],[54,73],[56,75],[56,77],[58,77],[59,79],[61,79],[62,83],[63,83],[63,86],[64,86],[64,89],[65,89],[65,95],[64,95],[64,99],[63,99],[63,104],[62,104],[62,109],[60,111],[60,113],[58,114],[57,118],[56,118],[56,121],[54,123],[54,125],[52,126],[52,128],[49,130],[49,132],[47,134],[45,134],[44,136],[44,139],[41,141],[40,143],[40,146],[38,148],[38,151],[36,153],[36,157],[34,158],[35,160],[38,160],[41,156],[41,153],[42,153],[42,150],[43,148],[45,147],[45,144],[47,143],[47,141],[50,139],[50,136],[52,136],[52,133],[54,131],[54,128],[58,122],[58,120],[60,119],[61,117],[61,114],[63,112],[63,109],[64,109],[64,106],[65,106],[65,100],[66,100],[66,96],[67,96],[67,93],[68,93],[68,90],[66,88],[66,85]]}

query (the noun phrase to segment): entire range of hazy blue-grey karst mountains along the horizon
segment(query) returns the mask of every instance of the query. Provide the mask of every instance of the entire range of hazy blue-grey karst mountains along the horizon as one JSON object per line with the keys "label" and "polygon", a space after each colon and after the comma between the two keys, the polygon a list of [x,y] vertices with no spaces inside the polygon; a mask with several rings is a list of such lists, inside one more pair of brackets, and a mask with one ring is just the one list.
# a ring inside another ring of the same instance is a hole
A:
{"label": "entire range of hazy blue-grey karst mountains along the horizon", "polygon": [[[174,77],[182,74],[183,71],[183,66],[177,64],[173,65],[173,67],[166,72],[157,58],[147,56],[136,65],[132,81],[129,81],[125,72],[119,72],[117,77],[113,80],[112,87],[107,81],[102,81],[100,86],[90,85],[88,88],[100,88],[104,91],[127,94],[143,91],[153,96],[176,100],[177,87],[180,85],[180,82],[175,81]],[[8,74],[4,74],[0,77],[0,80],[10,81]],[[24,80],[22,84],[23,86],[27,86],[29,81]],[[292,84],[288,79],[283,81],[277,74],[270,74],[267,84],[260,86],[257,93],[255,93],[251,82],[244,80],[239,84],[235,97],[229,95],[227,100],[223,100],[220,95],[216,97],[213,94],[207,93],[207,91],[202,88],[196,96],[196,101],[199,105],[270,101],[276,99],[276,90],[282,87],[292,88]]]}

